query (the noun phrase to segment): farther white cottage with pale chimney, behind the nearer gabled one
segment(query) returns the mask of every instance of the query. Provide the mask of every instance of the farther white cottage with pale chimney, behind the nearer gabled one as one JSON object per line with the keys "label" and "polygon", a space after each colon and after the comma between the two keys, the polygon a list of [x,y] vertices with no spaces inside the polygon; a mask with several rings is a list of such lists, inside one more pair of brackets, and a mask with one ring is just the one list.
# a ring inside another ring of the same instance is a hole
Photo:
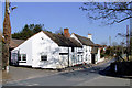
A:
{"label": "farther white cottage with pale chimney, behind the nearer gabled one", "polygon": [[80,36],[78,34],[73,33],[70,37],[74,37],[76,41],[78,41],[82,45],[82,52],[84,52],[84,62],[89,64],[97,64],[100,59],[100,51],[92,42],[91,34],[88,34],[88,37]]}

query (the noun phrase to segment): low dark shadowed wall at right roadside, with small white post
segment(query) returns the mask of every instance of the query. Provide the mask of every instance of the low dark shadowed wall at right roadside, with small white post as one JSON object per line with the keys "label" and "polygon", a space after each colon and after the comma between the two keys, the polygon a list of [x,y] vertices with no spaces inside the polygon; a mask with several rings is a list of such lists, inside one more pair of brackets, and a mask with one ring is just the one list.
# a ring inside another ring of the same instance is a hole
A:
{"label": "low dark shadowed wall at right roadside, with small white post", "polygon": [[116,75],[131,75],[132,76],[132,62],[111,63],[110,70]]}

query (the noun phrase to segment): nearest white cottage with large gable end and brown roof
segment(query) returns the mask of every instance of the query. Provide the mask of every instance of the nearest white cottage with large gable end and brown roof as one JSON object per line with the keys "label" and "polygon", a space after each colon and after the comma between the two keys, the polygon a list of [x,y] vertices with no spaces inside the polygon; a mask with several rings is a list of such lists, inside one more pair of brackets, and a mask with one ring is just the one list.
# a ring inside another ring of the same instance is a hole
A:
{"label": "nearest white cottage with large gable end and brown roof", "polygon": [[11,62],[35,68],[65,68],[82,61],[77,47],[81,48],[81,44],[66,34],[41,31],[11,51]]}

